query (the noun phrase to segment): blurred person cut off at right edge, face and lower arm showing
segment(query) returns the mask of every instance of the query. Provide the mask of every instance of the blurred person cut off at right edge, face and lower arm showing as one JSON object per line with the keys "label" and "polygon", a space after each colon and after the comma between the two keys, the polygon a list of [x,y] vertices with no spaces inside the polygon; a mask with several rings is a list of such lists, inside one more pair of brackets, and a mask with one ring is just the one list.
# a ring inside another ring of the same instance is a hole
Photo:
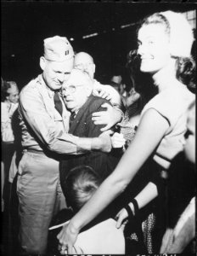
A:
{"label": "blurred person cut off at right edge, face and lower arm showing", "polygon": [[[189,106],[187,131],[183,139],[184,154],[193,167],[195,165],[195,101]],[[184,170],[186,172],[187,170]],[[193,174],[193,179],[195,175]],[[167,229],[163,236],[160,253],[195,253],[195,196],[189,200],[177,224]],[[192,243],[192,241],[194,241]],[[189,247],[190,244],[190,247]],[[189,247],[189,248],[188,248]],[[187,250],[187,251],[185,251]]]}

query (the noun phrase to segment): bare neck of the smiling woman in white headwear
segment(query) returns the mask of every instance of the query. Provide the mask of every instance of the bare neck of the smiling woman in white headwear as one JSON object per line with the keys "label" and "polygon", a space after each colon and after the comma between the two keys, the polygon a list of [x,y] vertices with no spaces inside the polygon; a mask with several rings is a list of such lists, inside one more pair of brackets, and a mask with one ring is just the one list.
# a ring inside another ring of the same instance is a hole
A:
{"label": "bare neck of the smiling woman in white headwear", "polygon": [[173,60],[166,67],[161,68],[153,75],[154,84],[158,86],[159,92],[172,88],[175,84],[180,84],[176,78],[175,61]]}

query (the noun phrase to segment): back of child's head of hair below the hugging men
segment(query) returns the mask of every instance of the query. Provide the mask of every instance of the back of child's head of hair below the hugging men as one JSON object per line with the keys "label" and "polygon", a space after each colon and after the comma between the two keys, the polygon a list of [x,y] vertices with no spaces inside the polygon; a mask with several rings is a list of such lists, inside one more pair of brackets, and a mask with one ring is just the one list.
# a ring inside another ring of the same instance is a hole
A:
{"label": "back of child's head of hair below the hugging men", "polygon": [[73,211],[78,211],[98,189],[100,179],[90,166],[71,169],[62,185],[65,200]]}

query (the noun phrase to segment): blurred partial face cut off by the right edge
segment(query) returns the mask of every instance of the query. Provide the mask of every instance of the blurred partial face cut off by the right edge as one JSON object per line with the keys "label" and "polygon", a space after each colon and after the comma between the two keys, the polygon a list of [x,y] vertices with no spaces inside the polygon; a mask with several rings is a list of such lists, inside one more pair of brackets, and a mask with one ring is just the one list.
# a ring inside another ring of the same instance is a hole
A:
{"label": "blurred partial face cut off by the right edge", "polygon": [[185,133],[184,153],[186,158],[195,163],[195,102],[189,106],[187,131]]}

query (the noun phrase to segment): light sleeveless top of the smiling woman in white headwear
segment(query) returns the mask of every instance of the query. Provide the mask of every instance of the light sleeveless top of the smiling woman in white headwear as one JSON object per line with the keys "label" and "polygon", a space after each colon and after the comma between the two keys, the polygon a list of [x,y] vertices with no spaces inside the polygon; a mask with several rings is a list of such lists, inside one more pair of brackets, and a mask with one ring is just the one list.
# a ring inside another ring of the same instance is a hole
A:
{"label": "light sleeveless top of the smiling woman in white headwear", "polygon": [[192,94],[184,84],[176,84],[172,88],[161,91],[144,107],[141,116],[150,108],[154,108],[169,123],[169,128],[156,149],[154,160],[164,169],[168,169],[172,159],[183,151],[183,135],[186,131],[187,110],[194,101]]}

